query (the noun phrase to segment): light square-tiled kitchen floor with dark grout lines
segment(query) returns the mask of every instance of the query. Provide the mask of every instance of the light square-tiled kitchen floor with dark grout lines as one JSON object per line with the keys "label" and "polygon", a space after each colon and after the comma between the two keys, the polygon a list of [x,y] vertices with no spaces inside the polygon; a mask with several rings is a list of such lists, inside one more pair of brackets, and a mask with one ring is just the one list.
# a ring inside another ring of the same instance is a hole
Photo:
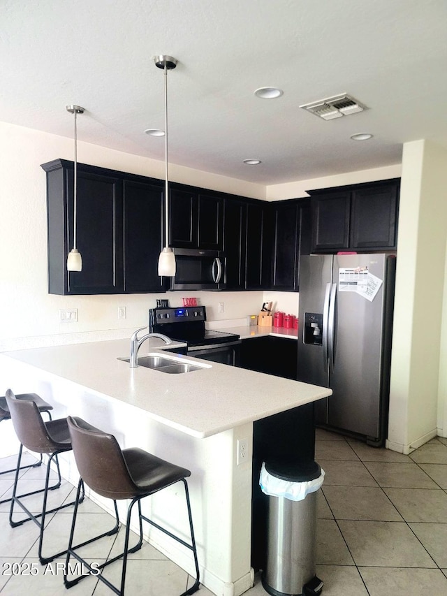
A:
{"label": "light square-tiled kitchen floor with dark grout lines", "polygon": [[[318,430],[316,460],[325,470],[318,493],[316,561],[317,575],[325,584],[323,596],[447,594],[447,439],[433,439],[404,456]],[[14,465],[15,458],[3,458],[0,471]],[[38,486],[44,472],[44,467],[23,472],[26,488]],[[0,476],[0,499],[8,496],[12,483],[13,474]],[[52,504],[73,499],[74,490],[64,483],[50,494]],[[29,501],[38,510],[39,498]],[[37,526],[28,522],[10,528],[8,510],[8,504],[0,505],[2,596],[112,594],[94,577],[67,592],[56,562],[46,567],[38,562]],[[80,513],[79,542],[87,530],[110,528],[111,519],[87,500]],[[70,523],[71,508],[50,520],[44,554],[64,548]],[[87,546],[82,553],[91,561],[106,560],[118,552],[122,535],[121,531],[104,539],[100,548]],[[117,581],[119,567],[118,563],[107,569],[111,581]],[[129,596],[177,596],[190,583],[186,572],[149,544],[131,555]],[[198,594],[212,596],[203,586]],[[258,576],[247,596],[265,596]]]}

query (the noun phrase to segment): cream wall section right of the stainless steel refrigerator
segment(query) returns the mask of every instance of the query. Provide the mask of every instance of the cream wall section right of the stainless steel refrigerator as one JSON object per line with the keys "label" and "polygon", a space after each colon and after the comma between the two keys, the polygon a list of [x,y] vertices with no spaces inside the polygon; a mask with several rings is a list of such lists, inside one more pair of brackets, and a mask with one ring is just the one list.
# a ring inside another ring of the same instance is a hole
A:
{"label": "cream wall section right of the stainless steel refrigerator", "polygon": [[388,445],[403,453],[437,435],[446,166],[434,143],[404,145],[388,428]]}

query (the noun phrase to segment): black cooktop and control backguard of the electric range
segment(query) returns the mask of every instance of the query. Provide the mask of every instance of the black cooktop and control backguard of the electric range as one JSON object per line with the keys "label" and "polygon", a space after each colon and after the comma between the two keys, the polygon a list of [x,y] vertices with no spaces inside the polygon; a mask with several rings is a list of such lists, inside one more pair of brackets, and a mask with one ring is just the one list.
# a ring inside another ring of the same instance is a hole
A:
{"label": "black cooktop and control backguard of the electric range", "polygon": [[223,344],[239,340],[239,335],[205,329],[204,306],[152,308],[149,310],[149,331],[163,333],[171,340],[186,342],[189,347]]}

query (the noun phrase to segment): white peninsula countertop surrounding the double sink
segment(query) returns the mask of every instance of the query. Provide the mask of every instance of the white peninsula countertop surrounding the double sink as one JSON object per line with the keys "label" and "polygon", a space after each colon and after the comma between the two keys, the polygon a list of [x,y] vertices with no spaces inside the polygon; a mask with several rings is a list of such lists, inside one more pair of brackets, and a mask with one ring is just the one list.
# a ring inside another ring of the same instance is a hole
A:
{"label": "white peninsula countertop surrounding the double sink", "polygon": [[[266,330],[270,332],[272,328]],[[151,340],[150,344],[146,342],[139,356],[157,351],[161,344],[166,345],[160,340]],[[325,387],[190,356],[175,357],[209,368],[168,375],[142,366],[131,369],[129,363],[117,360],[119,357],[129,357],[129,340],[0,354],[0,358],[13,358],[99,395],[142,408],[152,419],[199,438],[284,412],[332,393]]]}

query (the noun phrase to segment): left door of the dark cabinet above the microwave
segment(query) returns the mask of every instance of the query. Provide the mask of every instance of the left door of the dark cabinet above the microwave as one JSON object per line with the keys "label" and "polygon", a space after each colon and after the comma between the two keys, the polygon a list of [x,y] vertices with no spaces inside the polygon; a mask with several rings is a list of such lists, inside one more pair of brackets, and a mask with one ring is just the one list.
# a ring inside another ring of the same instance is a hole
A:
{"label": "left door of the dark cabinet above the microwave", "polygon": [[193,191],[169,191],[169,246],[197,248],[197,194]]}

